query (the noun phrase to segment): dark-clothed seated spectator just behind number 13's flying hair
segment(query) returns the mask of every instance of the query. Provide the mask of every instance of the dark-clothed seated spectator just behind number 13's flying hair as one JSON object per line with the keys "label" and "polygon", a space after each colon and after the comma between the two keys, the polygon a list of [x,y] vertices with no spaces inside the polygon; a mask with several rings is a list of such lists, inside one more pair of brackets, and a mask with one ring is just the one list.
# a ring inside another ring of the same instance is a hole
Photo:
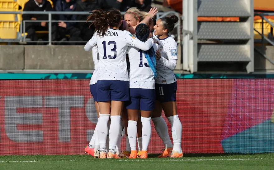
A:
{"label": "dark-clothed seated spectator just behind number 13's flying hair", "polygon": [[[102,9],[104,11],[109,9],[105,0],[78,0],[76,2],[75,11],[87,11],[91,12],[97,9]],[[78,15],[77,20],[87,20],[87,15]],[[89,41],[94,34],[94,25],[89,29],[90,23],[78,22],[77,28],[80,29],[81,34],[80,37],[83,41]]]}

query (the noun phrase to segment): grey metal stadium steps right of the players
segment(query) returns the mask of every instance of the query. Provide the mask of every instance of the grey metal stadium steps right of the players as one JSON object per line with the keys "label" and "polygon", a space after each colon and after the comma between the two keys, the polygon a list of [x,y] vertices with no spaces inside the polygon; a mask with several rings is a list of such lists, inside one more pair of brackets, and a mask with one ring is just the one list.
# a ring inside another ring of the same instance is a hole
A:
{"label": "grey metal stadium steps right of the players", "polygon": [[[194,21],[196,39],[194,72],[207,65],[220,71],[231,71],[229,65],[239,66],[238,71],[254,71],[253,51],[253,0],[197,0],[197,17],[239,17],[238,21]],[[194,2],[195,3],[195,2]],[[250,4],[249,4],[250,3]],[[252,11],[252,12],[250,12]],[[196,57],[196,58],[195,58]],[[227,65],[221,67],[220,65]],[[211,68],[210,68],[211,69]],[[221,70],[223,69],[223,70]],[[209,70],[210,71],[210,70]]]}

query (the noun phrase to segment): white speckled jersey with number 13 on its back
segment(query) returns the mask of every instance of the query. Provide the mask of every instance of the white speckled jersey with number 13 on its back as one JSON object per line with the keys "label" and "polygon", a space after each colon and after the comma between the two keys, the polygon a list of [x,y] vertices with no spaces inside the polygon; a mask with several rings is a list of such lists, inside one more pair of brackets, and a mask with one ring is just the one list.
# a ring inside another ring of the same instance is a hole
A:
{"label": "white speckled jersey with number 13 on its back", "polygon": [[[99,53],[97,80],[121,80],[128,81],[126,65],[126,50],[128,46],[134,46],[139,40],[128,31],[108,29],[104,36],[97,33],[89,40],[90,46],[97,44]],[[139,45],[145,46],[139,41]],[[148,46],[152,46],[152,39]],[[136,44],[137,45],[137,44]],[[144,47],[147,48],[147,47]]]}

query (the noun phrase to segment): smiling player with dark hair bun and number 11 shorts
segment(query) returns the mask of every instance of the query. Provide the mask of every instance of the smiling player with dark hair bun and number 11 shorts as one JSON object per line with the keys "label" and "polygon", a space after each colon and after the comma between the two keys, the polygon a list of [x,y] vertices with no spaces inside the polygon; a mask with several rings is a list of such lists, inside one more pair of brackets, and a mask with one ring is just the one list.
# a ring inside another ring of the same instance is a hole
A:
{"label": "smiling player with dark hair bun and number 11 shorts", "polygon": [[[164,17],[157,20],[154,26],[154,35],[157,36],[158,44],[158,55],[156,55],[158,78],[155,80],[156,102],[152,120],[158,135],[166,146],[159,157],[179,158],[183,156],[181,147],[182,124],[177,115],[176,107],[177,82],[173,73],[178,59],[177,43],[168,35],[176,22],[178,22],[177,16]],[[171,124],[174,146],[168,135],[168,127],[161,116],[162,110],[164,110],[165,116]]]}

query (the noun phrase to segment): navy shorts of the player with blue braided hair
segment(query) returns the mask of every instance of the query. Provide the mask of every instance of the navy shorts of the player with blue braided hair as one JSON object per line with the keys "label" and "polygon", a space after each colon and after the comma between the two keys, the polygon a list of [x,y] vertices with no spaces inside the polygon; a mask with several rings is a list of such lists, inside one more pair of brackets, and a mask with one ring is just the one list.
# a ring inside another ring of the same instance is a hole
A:
{"label": "navy shorts of the player with blue braided hair", "polygon": [[126,109],[152,111],[155,97],[154,89],[130,88],[130,101],[126,102]]}

